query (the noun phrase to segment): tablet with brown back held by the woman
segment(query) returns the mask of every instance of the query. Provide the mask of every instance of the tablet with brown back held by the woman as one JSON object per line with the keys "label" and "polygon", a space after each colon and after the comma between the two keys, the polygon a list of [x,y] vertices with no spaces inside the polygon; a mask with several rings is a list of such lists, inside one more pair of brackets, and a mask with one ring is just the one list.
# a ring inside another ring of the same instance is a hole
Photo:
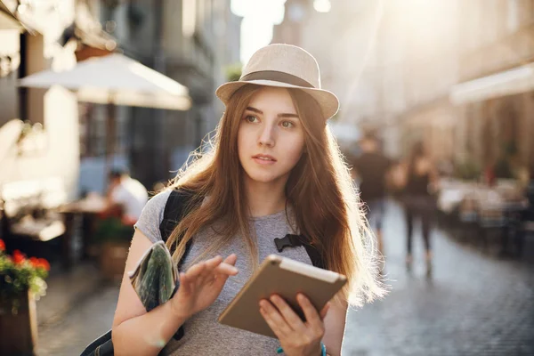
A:
{"label": "tablet with brown back held by the woman", "polygon": [[346,281],[339,273],[279,255],[269,255],[221,313],[219,322],[276,338],[260,314],[260,300],[269,299],[273,294],[280,295],[304,320],[303,312],[296,302],[297,293],[306,295],[320,311]]}

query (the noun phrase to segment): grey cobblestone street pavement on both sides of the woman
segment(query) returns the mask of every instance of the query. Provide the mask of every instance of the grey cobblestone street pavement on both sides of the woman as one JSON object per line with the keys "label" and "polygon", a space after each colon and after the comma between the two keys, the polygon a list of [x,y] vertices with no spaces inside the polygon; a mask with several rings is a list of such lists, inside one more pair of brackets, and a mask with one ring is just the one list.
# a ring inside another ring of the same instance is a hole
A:
{"label": "grey cobblestone street pavement on both sides of the woman", "polygon": [[[344,355],[534,354],[534,265],[482,255],[433,231],[433,279],[425,277],[418,235],[408,274],[401,213],[390,204],[384,222],[391,293],[350,313]],[[79,354],[109,329],[116,303],[117,287],[102,287],[66,318],[41,324],[38,354]]]}

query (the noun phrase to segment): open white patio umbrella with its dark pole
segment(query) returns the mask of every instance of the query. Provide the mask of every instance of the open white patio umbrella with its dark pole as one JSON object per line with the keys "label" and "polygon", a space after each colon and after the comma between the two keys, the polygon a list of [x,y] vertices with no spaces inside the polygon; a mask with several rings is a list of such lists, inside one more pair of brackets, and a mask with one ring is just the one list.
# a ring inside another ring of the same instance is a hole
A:
{"label": "open white patio umbrella with its dark pole", "polygon": [[44,70],[20,79],[19,85],[61,85],[76,92],[79,101],[108,104],[106,170],[115,148],[115,105],[174,110],[191,106],[184,85],[119,53],[82,61],[66,71]]}

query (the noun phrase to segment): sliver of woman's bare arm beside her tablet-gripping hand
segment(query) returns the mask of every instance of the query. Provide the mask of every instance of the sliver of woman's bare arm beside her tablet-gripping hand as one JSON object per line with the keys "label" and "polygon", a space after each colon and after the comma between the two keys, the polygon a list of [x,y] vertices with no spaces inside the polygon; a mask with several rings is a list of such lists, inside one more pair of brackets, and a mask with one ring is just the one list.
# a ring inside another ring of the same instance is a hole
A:
{"label": "sliver of woman's bare arm beside her tablet-gripping hand", "polygon": [[347,315],[347,303],[336,299],[330,302],[328,314],[325,317],[325,336],[323,343],[327,346],[330,356],[341,355],[344,328]]}

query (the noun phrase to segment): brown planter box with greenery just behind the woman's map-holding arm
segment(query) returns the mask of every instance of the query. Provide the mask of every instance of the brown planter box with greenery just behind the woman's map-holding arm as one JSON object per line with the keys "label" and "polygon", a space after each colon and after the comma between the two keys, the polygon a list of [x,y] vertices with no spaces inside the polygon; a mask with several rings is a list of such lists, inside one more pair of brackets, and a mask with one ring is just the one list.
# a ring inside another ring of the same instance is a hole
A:
{"label": "brown planter box with greenery just behind the woman's map-holding arm", "polygon": [[125,271],[130,242],[104,242],[101,245],[100,268],[104,279],[120,281]]}

